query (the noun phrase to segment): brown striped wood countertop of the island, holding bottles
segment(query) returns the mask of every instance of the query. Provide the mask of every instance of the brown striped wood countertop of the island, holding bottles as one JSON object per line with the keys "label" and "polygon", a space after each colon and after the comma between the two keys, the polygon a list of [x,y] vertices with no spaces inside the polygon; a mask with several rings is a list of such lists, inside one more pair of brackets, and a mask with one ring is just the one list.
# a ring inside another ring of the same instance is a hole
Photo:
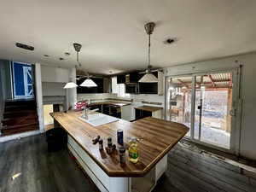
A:
{"label": "brown striped wood countertop of the island, holding bottles", "polygon": [[[79,119],[82,112],[57,112],[51,115],[110,177],[143,177],[189,131],[185,125],[151,117],[132,123],[119,119],[113,123],[94,127]],[[113,143],[117,143],[119,129],[124,131],[124,143],[128,143],[130,137],[137,137],[140,140],[137,164],[128,160],[126,150],[126,165],[120,166],[117,152],[108,155],[105,149],[101,152],[98,144],[94,145],[91,141],[92,138],[100,135],[104,148],[107,146],[108,137],[112,137]]]}

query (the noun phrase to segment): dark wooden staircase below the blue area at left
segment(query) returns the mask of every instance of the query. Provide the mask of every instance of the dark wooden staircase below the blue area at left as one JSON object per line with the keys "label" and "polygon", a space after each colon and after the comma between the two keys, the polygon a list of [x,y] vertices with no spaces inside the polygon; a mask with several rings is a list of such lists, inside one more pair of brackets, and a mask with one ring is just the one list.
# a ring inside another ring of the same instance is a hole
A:
{"label": "dark wooden staircase below the blue area at left", "polygon": [[37,103],[29,101],[5,102],[1,136],[38,130]]}

